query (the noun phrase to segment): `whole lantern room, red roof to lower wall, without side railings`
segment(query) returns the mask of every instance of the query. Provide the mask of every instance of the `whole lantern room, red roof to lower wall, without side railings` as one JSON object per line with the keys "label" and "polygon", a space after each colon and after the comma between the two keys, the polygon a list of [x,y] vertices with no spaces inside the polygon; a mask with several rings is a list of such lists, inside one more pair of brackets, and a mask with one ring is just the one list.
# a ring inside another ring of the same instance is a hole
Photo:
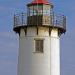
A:
{"label": "whole lantern room, red roof to lower wall, without side railings", "polygon": [[49,25],[53,5],[46,0],[34,0],[28,7],[28,25]]}

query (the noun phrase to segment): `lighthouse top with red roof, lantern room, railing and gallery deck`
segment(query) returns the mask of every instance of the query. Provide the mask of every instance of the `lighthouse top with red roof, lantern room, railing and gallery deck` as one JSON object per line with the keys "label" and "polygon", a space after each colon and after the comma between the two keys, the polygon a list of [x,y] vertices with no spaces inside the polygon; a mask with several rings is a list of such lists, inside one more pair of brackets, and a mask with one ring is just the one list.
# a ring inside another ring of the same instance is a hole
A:
{"label": "lighthouse top with red roof, lantern room, railing and gallery deck", "polygon": [[14,31],[21,28],[43,26],[57,28],[60,33],[66,32],[66,16],[55,14],[53,4],[47,0],[33,0],[27,4],[27,13],[14,15]]}

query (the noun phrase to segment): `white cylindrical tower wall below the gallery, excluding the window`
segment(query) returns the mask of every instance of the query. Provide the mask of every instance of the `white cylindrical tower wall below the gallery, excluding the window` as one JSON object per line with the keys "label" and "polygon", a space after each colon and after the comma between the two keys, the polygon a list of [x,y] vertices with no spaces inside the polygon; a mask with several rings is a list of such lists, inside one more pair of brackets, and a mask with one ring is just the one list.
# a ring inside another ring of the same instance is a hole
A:
{"label": "white cylindrical tower wall below the gallery, excluding the window", "polygon": [[[58,29],[46,27],[20,29],[18,75],[60,75]],[[35,51],[35,40],[43,39],[43,53]]]}

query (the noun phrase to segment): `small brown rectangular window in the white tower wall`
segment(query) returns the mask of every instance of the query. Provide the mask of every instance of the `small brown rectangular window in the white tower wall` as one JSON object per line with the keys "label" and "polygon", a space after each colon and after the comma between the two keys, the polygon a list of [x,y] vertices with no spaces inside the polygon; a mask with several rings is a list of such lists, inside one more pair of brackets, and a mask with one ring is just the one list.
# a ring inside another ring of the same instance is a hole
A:
{"label": "small brown rectangular window in the white tower wall", "polygon": [[35,52],[43,53],[43,40],[35,40]]}

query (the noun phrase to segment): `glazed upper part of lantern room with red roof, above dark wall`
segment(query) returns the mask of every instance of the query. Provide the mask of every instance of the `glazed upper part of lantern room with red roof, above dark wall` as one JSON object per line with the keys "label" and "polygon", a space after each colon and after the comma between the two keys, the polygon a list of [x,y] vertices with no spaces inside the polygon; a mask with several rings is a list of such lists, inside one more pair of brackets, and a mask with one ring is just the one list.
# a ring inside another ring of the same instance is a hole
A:
{"label": "glazed upper part of lantern room with red roof, above dark wall", "polygon": [[53,5],[45,0],[34,0],[28,7],[28,16],[33,15],[50,15]]}

